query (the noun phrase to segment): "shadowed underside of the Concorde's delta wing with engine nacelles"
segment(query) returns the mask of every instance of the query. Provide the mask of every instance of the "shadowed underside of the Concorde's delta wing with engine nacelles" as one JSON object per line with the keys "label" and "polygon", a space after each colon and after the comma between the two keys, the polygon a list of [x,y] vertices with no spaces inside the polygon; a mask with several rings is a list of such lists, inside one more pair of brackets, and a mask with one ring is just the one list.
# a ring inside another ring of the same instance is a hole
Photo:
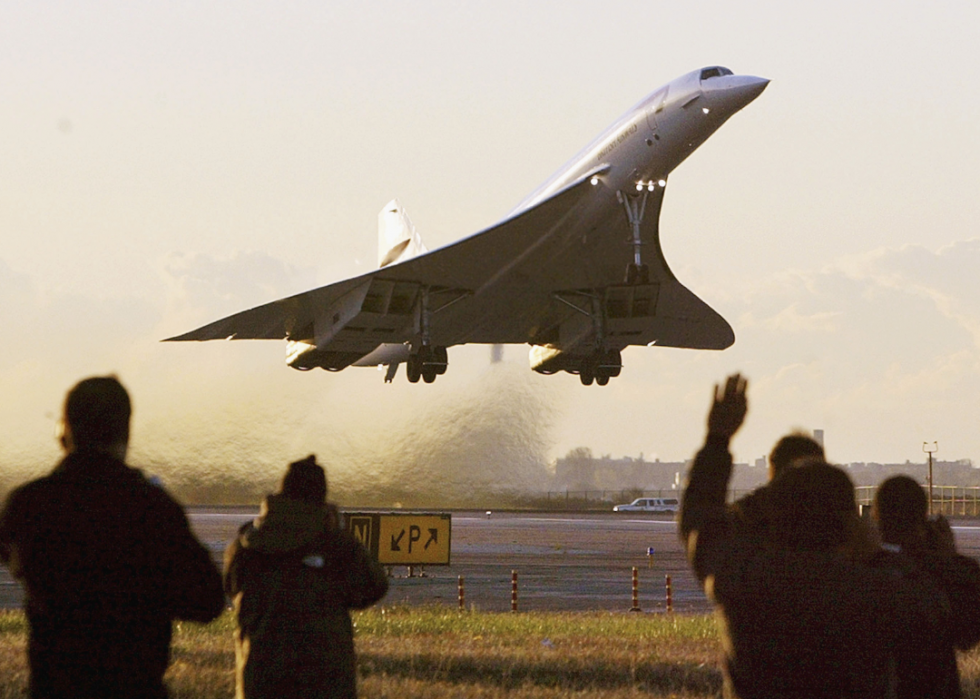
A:
{"label": "shadowed underside of the Concorde's delta wing with engine nacelles", "polygon": [[[729,346],[731,327],[677,282],[659,252],[662,192],[646,218],[656,249],[651,278],[623,283],[628,241],[605,169],[457,243],[166,341],[286,339],[291,366],[334,371],[410,362],[413,350],[429,346],[529,343],[547,350],[545,361],[532,357],[542,373],[578,373],[597,344],[617,353],[629,345]],[[444,359],[429,363],[444,370]]]}

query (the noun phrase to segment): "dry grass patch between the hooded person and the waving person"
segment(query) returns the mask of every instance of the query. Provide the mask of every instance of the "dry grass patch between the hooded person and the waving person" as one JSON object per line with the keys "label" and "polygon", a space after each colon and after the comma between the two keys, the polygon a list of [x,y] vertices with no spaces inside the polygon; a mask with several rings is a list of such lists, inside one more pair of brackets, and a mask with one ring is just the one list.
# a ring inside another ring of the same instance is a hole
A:
{"label": "dry grass patch between the hooded person and the waving person", "polygon": [[365,697],[715,696],[705,617],[458,614],[385,609],[358,619]]}

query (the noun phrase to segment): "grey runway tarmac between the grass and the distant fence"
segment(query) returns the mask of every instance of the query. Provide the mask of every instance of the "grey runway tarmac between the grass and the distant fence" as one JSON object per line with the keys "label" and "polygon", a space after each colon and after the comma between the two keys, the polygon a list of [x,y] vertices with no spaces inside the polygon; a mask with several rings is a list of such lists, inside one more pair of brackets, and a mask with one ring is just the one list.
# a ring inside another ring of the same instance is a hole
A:
{"label": "grey runway tarmac between the grass and the distant fence", "polygon": [[[191,525],[215,561],[235,532],[255,515],[195,508]],[[980,556],[980,524],[954,520],[960,552]],[[647,548],[653,547],[652,561]],[[458,576],[465,578],[466,607],[510,609],[511,571],[518,574],[521,611],[627,611],[632,568],[639,571],[644,612],[663,612],[665,576],[676,611],[707,611],[710,604],[688,570],[669,515],[454,512],[451,565],[430,566],[425,577],[392,569],[385,604],[436,604],[456,608]],[[18,606],[19,585],[0,568],[0,607]]]}

